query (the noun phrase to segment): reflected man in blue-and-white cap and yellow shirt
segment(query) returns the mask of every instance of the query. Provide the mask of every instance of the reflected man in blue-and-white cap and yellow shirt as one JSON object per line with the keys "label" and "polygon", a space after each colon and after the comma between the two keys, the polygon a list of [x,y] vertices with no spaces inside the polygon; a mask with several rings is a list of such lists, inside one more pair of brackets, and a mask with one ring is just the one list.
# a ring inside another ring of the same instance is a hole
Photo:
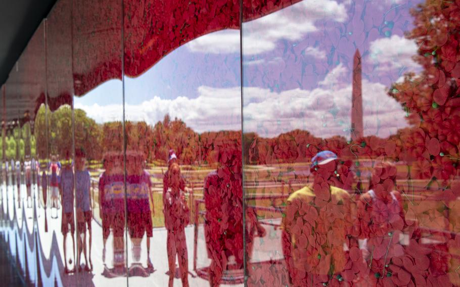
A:
{"label": "reflected man in blue-and-white cap and yellow shirt", "polygon": [[[337,155],[316,154],[310,165],[311,186],[287,200],[282,221],[282,246],[294,286],[329,285],[343,281],[347,230],[350,227],[350,196],[333,186]],[[333,282],[333,281],[336,282]]]}

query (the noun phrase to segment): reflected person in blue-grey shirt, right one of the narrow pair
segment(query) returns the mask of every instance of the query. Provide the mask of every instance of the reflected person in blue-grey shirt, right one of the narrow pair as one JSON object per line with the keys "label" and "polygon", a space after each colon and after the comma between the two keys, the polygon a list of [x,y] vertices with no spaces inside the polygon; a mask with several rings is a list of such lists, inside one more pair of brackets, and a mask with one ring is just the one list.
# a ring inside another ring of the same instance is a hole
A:
{"label": "reflected person in blue-grey shirt, right one of the narrow pair", "polygon": [[[75,202],[77,212],[77,241],[78,241],[78,262],[80,261],[81,252],[83,252],[86,262],[85,270],[93,269],[91,261],[91,220],[93,212],[91,211],[91,197],[89,196],[90,176],[85,167],[86,156],[83,150],[75,151]],[[86,229],[88,230],[88,254],[86,255]]]}

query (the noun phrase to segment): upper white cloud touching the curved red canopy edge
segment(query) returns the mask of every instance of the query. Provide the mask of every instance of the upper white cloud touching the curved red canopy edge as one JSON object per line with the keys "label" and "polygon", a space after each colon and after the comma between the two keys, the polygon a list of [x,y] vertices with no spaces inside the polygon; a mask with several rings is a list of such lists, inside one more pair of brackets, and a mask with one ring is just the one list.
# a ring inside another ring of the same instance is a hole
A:
{"label": "upper white cloud touching the curved red canopy edge", "polygon": [[[268,52],[281,39],[300,40],[305,34],[317,31],[314,25],[317,20],[343,22],[346,18],[344,4],[338,4],[334,0],[304,0],[264,17],[244,22],[243,52],[245,55]],[[240,32],[218,31],[203,35],[186,45],[192,52],[239,53]]]}

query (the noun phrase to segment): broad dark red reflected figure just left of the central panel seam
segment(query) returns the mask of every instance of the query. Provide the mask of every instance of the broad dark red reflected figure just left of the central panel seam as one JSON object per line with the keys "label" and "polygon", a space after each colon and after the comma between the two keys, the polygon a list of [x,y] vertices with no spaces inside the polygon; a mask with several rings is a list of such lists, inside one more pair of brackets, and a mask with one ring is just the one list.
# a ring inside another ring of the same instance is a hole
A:
{"label": "broad dark red reflected figure just left of the central panel seam", "polygon": [[[225,271],[244,272],[241,142],[225,139],[214,146],[214,151],[218,167],[205,178],[203,196],[206,247],[211,259],[209,283],[218,286]],[[247,225],[250,229],[246,231],[252,236],[255,226]],[[262,228],[258,231],[263,234]]]}

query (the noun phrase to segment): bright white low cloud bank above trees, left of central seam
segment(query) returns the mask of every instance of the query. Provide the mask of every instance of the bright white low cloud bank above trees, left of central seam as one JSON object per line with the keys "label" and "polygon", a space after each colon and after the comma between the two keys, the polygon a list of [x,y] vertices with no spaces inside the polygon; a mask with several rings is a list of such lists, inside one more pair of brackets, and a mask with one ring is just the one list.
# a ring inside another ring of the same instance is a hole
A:
{"label": "bright white low cloud bank above trees, left of central seam", "polygon": [[[127,120],[146,121],[154,125],[166,114],[179,118],[198,132],[207,130],[241,129],[241,89],[240,87],[218,89],[208,86],[198,88],[195,99],[177,97],[173,100],[153,97],[139,105],[125,105]],[[121,120],[122,105],[100,106],[76,103],[75,108],[86,111],[88,117],[98,123]],[[104,113],[101,113],[104,111]]]}

